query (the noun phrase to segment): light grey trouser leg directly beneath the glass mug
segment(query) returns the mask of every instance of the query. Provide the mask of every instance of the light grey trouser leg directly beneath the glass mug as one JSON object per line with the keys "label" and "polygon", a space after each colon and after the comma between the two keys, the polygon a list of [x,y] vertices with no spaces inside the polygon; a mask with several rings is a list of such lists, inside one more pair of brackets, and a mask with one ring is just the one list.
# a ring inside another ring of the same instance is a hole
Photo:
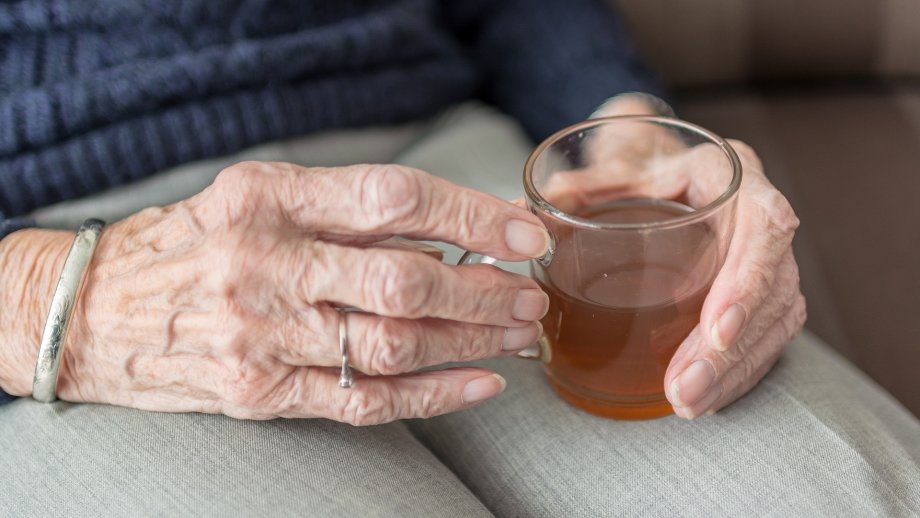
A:
{"label": "light grey trouser leg directly beneath the glass mug", "polygon": [[576,410],[536,362],[497,400],[409,425],[498,516],[920,513],[920,425],[810,336],[749,395],[696,421]]}

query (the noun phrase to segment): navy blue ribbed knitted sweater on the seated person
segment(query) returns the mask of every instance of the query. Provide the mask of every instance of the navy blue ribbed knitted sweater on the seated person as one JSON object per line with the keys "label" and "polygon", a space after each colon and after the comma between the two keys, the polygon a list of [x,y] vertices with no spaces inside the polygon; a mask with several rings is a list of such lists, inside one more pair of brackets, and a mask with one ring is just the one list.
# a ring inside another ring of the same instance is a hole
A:
{"label": "navy blue ribbed knitted sweater on the seated person", "polygon": [[604,0],[5,1],[0,49],[0,238],[265,141],[471,97],[539,139],[660,93]]}

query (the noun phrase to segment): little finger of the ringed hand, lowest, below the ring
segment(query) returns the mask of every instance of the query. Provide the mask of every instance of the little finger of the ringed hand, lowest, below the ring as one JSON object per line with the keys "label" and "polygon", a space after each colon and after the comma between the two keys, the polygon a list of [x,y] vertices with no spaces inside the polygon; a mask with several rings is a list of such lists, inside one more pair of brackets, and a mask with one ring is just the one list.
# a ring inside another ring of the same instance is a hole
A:
{"label": "little finger of the ringed hand, lowest, below the ring", "polygon": [[497,396],[505,380],[485,369],[458,368],[402,376],[367,376],[355,386],[339,388],[334,370],[303,367],[284,394],[283,417],[325,417],[354,426],[388,423],[397,419],[428,418],[475,406]]}

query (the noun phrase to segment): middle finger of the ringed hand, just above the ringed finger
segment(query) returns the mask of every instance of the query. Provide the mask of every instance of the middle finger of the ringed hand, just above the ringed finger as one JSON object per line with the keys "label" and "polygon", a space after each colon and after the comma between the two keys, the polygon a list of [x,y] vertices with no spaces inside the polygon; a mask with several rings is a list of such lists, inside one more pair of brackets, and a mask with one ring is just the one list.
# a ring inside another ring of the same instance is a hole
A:
{"label": "middle finger of the ringed hand, just above the ringed finger", "polygon": [[295,303],[332,302],[388,317],[441,318],[522,327],[542,318],[549,298],[536,282],[489,265],[452,267],[402,250],[360,250],[291,242],[270,268]]}

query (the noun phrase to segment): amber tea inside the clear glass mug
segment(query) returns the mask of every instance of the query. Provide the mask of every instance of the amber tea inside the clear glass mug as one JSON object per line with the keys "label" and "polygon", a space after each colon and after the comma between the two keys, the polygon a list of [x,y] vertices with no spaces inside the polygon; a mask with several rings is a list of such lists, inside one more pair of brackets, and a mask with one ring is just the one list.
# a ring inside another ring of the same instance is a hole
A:
{"label": "amber tea inside the clear glass mug", "polygon": [[[645,223],[691,210],[674,201],[638,199],[573,215],[596,222]],[[550,297],[542,345],[556,391],[569,403],[608,417],[670,413],[664,374],[677,347],[699,322],[717,271],[715,241],[704,223],[645,239],[609,232],[563,233],[552,264],[534,265],[534,277]]]}

